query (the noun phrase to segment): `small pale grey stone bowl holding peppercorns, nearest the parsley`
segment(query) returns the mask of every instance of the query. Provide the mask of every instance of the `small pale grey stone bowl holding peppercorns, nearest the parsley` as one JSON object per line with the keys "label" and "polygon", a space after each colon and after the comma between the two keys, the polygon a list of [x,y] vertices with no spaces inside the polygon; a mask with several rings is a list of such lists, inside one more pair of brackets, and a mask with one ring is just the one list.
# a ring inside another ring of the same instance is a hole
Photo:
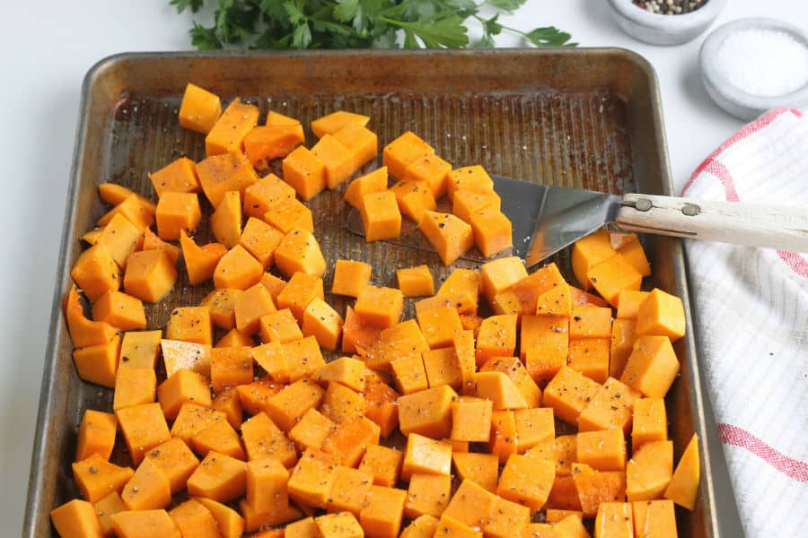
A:
{"label": "small pale grey stone bowl holding peppercorns, nearest the parsley", "polygon": [[632,38],[652,45],[681,45],[707,30],[726,0],[707,0],[696,11],[681,15],[650,13],[631,0],[609,0],[609,4],[619,27]]}

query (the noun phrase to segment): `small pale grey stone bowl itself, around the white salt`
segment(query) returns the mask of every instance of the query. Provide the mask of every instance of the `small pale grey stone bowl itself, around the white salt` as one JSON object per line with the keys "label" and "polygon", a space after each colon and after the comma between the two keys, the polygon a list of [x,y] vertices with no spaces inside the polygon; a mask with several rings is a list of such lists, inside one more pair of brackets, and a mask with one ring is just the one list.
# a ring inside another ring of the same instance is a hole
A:
{"label": "small pale grey stone bowl itself, around the white salt", "polygon": [[743,120],[751,120],[759,117],[769,108],[776,107],[808,107],[808,82],[795,91],[778,95],[775,97],[763,97],[744,91],[733,85],[718,67],[718,51],[724,44],[725,39],[738,30],[779,30],[790,34],[794,39],[804,43],[808,47],[808,32],[801,30],[787,22],[753,17],[749,19],[739,19],[738,21],[727,22],[724,26],[714,30],[704,44],[698,55],[698,63],[701,67],[701,79],[710,97],[716,104],[724,108],[734,117]]}

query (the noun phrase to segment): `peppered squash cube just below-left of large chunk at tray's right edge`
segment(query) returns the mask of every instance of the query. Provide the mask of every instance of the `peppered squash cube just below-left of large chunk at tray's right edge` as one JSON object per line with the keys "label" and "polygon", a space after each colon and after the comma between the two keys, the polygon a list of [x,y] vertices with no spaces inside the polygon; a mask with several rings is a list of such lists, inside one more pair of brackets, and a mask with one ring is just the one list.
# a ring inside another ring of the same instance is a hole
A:
{"label": "peppered squash cube just below-left of large chunk at tray's right edge", "polygon": [[628,434],[632,409],[638,397],[636,390],[609,377],[578,417],[578,430],[618,429]]}

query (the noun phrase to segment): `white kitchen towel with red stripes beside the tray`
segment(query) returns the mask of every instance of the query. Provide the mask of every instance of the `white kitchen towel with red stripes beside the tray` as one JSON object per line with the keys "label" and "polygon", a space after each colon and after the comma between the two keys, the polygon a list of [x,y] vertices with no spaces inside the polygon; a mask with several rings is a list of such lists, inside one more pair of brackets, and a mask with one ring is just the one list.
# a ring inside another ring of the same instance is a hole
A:
{"label": "white kitchen towel with red stripes beside the tray", "polygon": [[[808,213],[808,117],[768,111],[707,157],[682,195]],[[806,536],[808,256],[685,247],[700,360],[745,534]]]}

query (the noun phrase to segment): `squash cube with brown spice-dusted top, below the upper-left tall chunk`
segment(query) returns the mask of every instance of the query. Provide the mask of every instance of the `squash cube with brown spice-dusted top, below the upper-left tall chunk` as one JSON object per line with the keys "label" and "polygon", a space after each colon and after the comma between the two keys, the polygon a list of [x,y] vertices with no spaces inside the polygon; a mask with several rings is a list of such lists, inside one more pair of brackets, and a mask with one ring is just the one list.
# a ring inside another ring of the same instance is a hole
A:
{"label": "squash cube with brown spice-dusted top, below the upper-left tall chunk", "polygon": [[197,163],[197,176],[202,190],[213,207],[222,203],[224,193],[239,191],[244,196],[248,187],[259,180],[252,164],[242,152],[224,152]]}

